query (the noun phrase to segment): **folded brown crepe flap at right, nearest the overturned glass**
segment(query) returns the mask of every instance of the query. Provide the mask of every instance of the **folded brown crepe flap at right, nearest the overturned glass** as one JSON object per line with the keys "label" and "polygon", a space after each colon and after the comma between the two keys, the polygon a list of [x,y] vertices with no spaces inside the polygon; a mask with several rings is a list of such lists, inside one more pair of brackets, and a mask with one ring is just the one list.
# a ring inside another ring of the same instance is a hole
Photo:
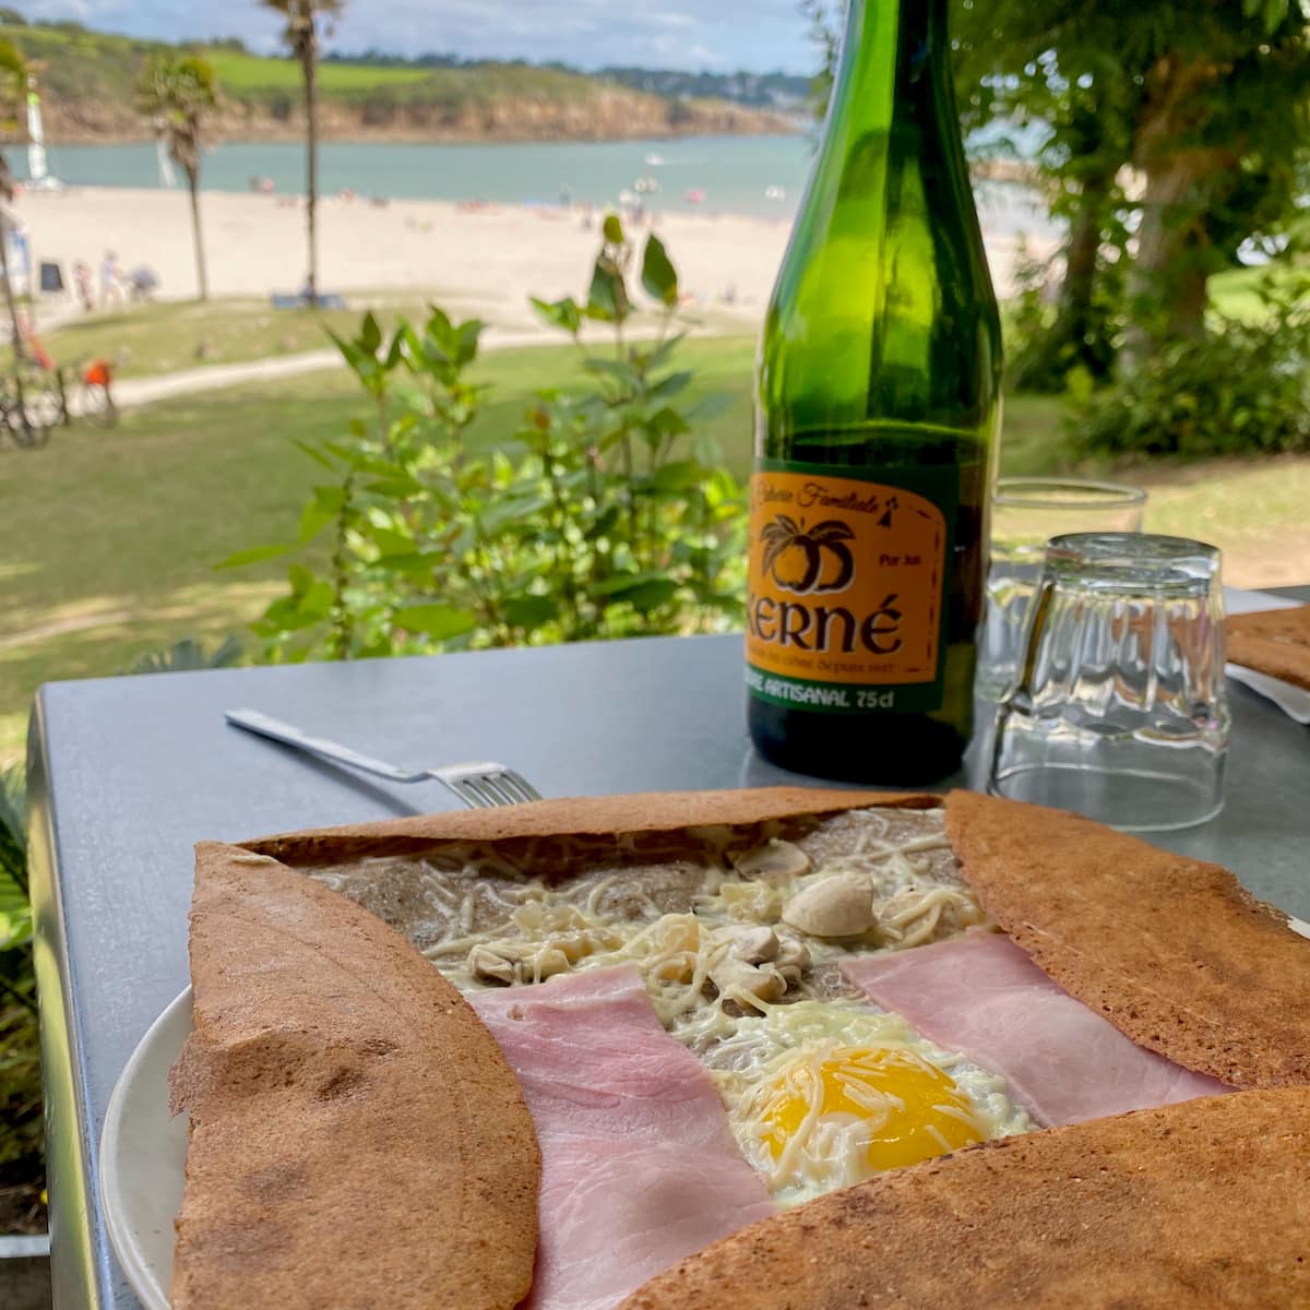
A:
{"label": "folded brown crepe flap at right, nearest the overturned glass", "polygon": [[1230,1087],[1310,1083],[1310,948],[1226,869],[969,791],[946,831],[1010,939],[1137,1045]]}

